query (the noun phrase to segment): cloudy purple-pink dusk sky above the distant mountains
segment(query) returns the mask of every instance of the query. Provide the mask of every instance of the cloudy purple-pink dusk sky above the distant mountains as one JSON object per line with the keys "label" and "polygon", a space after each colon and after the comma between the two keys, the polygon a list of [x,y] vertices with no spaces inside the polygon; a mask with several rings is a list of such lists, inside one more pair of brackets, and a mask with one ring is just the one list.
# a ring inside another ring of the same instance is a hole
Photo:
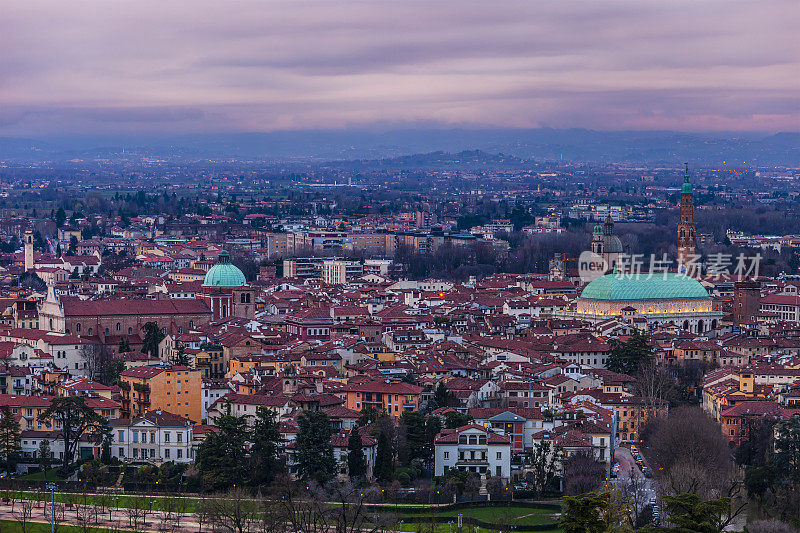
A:
{"label": "cloudy purple-pink dusk sky above the distant mountains", "polygon": [[26,0],[0,135],[800,129],[797,0]]}

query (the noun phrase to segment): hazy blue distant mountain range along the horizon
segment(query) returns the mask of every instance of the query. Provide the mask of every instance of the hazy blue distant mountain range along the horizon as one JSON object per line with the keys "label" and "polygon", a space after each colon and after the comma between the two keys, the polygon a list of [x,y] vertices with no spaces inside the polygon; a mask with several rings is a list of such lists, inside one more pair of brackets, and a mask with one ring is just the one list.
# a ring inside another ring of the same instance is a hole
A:
{"label": "hazy blue distant mountain range along the horizon", "polygon": [[[124,150],[124,153],[123,153]],[[71,159],[358,160],[480,150],[538,161],[689,161],[800,166],[800,132],[700,134],[585,129],[324,130],[175,136],[0,138],[0,161]]]}

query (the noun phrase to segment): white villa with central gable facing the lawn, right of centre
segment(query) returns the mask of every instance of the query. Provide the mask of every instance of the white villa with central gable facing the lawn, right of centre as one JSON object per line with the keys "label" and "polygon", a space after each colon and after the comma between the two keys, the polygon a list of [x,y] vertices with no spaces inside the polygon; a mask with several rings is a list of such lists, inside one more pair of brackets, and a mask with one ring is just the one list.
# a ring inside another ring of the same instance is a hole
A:
{"label": "white villa with central gable facing the lawn, right of centre", "polygon": [[511,477],[511,439],[477,424],[442,430],[435,449],[434,475],[457,468],[481,476]]}

